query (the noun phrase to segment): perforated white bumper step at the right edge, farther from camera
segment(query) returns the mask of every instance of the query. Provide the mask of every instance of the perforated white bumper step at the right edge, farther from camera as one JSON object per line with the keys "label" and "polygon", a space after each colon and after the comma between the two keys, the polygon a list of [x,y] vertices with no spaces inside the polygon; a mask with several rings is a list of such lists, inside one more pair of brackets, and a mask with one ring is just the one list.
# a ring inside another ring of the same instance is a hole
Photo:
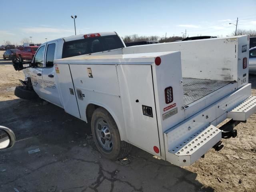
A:
{"label": "perforated white bumper step at the right edge, farther from camera", "polygon": [[230,112],[228,118],[245,121],[256,111],[256,96],[250,96]]}

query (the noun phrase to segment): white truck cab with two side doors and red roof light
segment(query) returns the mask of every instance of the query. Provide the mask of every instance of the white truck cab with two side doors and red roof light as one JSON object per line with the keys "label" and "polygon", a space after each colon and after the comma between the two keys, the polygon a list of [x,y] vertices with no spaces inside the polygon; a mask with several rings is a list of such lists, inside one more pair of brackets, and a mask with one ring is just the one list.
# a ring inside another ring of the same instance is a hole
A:
{"label": "white truck cab with two side doors and red roof light", "polygon": [[116,32],[81,34],[48,41],[38,48],[32,60],[33,67],[25,70],[25,76],[31,78],[33,89],[40,98],[63,107],[56,84],[58,69],[53,61],[123,47],[125,44]]}

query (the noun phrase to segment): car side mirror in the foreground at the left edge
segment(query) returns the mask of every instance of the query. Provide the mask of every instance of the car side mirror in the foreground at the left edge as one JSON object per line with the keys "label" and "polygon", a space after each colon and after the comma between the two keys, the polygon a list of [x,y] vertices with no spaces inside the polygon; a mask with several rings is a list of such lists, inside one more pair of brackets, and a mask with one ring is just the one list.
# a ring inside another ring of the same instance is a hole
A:
{"label": "car side mirror in the foreground at the left edge", "polygon": [[15,135],[12,130],[7,127],[0,126],[0,150],[8,149],[14,146]]}

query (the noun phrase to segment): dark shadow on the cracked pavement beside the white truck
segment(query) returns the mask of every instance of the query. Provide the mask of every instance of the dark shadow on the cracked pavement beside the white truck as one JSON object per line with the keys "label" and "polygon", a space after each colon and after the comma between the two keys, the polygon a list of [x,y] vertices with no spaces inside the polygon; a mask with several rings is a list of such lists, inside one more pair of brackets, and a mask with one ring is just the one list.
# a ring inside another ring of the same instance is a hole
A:
{"label": "dark shadow on the cracked pavement beside the white truck", "polygon": [[[17,140],[14,148],[1,154],[0,164],[8,170],[0,181],[5,191],[13,190],[13,184],[30,191],[48,191],[50,186],[72,192],[109,191],[101,186],[119,191],[214,191],[198,182],[196,173],[136,147],[126,161],[102,157],[90,125],[42,100],[0,102],[0,124],[11,128]],[[28,155],[34,148],[41,151]]]}

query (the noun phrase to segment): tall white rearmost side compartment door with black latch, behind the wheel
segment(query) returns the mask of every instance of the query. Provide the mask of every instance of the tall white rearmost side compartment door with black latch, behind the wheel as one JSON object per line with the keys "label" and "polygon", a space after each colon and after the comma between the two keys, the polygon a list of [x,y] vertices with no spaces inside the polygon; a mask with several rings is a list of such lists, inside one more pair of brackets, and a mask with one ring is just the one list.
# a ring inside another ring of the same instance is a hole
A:
{"label": "tall white rearmost side compartment door with black latch, behind the wheel", "polygon": [[118,65],[117,71],[128,141],[160,156],[151,66]]}

